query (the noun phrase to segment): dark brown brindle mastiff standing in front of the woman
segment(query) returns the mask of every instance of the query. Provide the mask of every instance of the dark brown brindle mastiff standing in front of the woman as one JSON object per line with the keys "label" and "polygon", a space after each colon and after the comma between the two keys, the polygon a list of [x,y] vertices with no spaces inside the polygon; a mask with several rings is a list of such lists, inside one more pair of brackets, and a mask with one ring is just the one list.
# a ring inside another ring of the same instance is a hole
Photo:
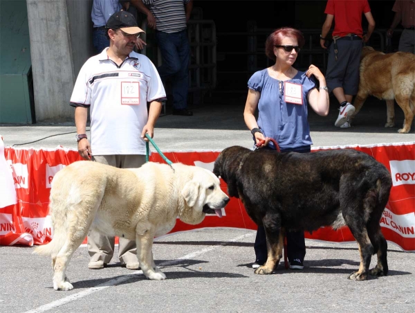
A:
{"label": "dark brown brindle mastiff standing in front of the woman", "polygon": [[[373,157],[356,150],[300,154],[228,147],[214,174],[240,198],[250,218],[263,225],[268,259],[255,274],[271,274],[282,258],[285,230],[315,231],[347,225],[358,242],[359,270],[352,280],[387,274],[387,242],[380,218],[389,199],[391,175]],[[378,263],[369,271],[372,254]]]}

